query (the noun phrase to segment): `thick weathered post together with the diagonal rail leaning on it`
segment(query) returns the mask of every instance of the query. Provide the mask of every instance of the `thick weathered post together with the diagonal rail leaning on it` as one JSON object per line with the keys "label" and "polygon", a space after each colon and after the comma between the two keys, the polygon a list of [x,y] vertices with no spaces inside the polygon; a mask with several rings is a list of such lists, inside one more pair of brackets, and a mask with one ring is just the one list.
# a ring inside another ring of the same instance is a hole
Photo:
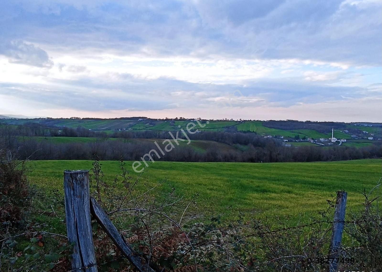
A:
{"label": "thick weathered post together with the diagonal rail leaning on it", "polygon": [[91,214],[123,255],[139,272],[154,272],[145,260],[136,255],[118,232],[106,212],[89,194],[89,171],[64,172],[65,212],[68,240],[74,243],[73,271],[97,272],[91,228]]}

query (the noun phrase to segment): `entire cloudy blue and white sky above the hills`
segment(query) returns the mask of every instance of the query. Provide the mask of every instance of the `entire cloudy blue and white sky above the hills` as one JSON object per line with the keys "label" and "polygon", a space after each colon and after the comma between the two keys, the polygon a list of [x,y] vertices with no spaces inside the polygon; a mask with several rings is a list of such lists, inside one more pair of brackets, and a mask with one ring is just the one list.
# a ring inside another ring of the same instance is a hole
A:
{"label": "entire cloudy blue and white sky above the hills", "polygon": [[382,0],[2,0],[0,115],[381,122]]}

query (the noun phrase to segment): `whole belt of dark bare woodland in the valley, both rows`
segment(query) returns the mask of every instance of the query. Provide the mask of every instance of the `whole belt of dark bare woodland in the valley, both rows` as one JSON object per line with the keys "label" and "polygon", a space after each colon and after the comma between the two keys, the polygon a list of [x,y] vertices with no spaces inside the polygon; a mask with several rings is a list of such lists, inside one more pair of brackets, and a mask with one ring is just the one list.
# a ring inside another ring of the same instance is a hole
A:
{"label": "whole belt of dark bare woodland in the valley, both rows", "polygon": [[[64,130],[62,130],[64,131]],[[162,140],[171,139],[168,132],[158,131],[121,131],[113,134],[117,140],[109,139],[105,134],[97,134],[83,128],[65,129],[64,135],[89,135],[95,137],[87,143],[54,143],[52,141],[34,140],[26,136],[52,136],[49,130],[34,126],[0,126],[0,149],[7,148],[17,152],[21,159],[92,159],[98,155],[103,160],[115,160],[121,156],[124,160],[140,160],[150,150],[157,150],[154,141],[130,140],[133,138],[155,138],[160,145]],[[241,132],[201,132],[187,134],[191,141],[210,140],[205,151],[197,150],[183,142],[161,158],[154,155],[154,160],[166,161],[210,161],[210,162],[306,162],[337,161],[349,159],[380,158],[382,148],[372,145],[364,148],[332,146],[285,147],[282,142],[260,137],[254,133]],[[176,132],[173,132],[176,137]],[[179,138],[185,138],[179,133]],[[213,142],[212,142],[213,141]],[[218,143],[238,148],[222,149]],[[162,146],[163,148],[163,146]],[[244,151],[242,151],[244,150]],[[159,153],[159,151],[158,151]],[[152,152],[154,154],[154,152]],[[146,158],[147,160],[147,158]]]}

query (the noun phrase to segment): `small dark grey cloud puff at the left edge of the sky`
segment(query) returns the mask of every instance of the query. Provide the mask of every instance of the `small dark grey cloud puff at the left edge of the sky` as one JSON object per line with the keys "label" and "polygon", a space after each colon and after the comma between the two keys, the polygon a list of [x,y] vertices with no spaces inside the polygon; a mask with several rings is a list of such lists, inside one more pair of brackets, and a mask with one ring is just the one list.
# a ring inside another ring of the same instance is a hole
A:
{"label": "small dark grey cloud puff at the left edge of the sky", "polygon": [[51,68],[53,66],[53,61],[50,60],[47,52],[21,40],[1,43],[0,54],[6,56],[10,63],[27,64],[44,68]]}

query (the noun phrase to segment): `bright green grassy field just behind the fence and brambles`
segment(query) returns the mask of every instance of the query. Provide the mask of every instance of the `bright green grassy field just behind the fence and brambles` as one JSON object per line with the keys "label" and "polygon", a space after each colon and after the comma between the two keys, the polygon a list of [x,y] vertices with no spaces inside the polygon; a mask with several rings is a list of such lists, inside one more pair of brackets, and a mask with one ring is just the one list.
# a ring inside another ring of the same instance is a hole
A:
{"label": "bright green grassy field just behind the fence and brambles", "polygon": [[[131,176],[131,163],[126,169]],[[120,174],[117,161],[102,162],[105,180]],[[239,211],[257,218],[290,216],[299,220],[327,207],[337,190],[348,192],[348,208],[360,207],[359,191],[371,190],[381,177],[381,159],[320,163],[178,163],[155,162],[141,177],[139,190],[166,181],[155,191],[165,197],[175,188],[178,196],[197,197],[202,214],[235,217]],[[92,161],[32,161],[29,180],[47,194],[62,192],[65,169],[91,169]],[[121,188],[122,190],[122,188]]]}

